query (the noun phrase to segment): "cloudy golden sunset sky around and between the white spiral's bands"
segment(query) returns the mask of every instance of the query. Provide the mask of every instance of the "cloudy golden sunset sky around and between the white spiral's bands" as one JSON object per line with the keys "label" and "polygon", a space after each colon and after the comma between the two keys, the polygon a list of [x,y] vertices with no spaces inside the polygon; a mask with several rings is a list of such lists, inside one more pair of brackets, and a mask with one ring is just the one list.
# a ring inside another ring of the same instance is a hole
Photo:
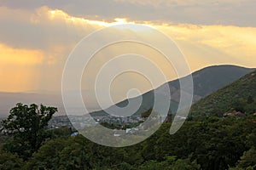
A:
{"label": "cloudy golden sunset sky around and between the white spiral's bands", "polygon": [[[255,7],[255,0],[0,0],[0,92],[61,91],[62,72],[77,43],[94,31],[125,23],[152,26],[171,37],[191,71],[208,65],[256,67]],[[125,47],[110,47],[95,62],[103,65],[104,55],[132,49],[154,59],[167,80],[177,77],[160,54]],[[96,67],[92,64],[87,72],[95,75]],[[123,76],[111,88],[122,97],[131,87],[150,88],[136,74]],[[86,82],[90,77],[84,74],[83,88],[90,93],[94,88]]]}

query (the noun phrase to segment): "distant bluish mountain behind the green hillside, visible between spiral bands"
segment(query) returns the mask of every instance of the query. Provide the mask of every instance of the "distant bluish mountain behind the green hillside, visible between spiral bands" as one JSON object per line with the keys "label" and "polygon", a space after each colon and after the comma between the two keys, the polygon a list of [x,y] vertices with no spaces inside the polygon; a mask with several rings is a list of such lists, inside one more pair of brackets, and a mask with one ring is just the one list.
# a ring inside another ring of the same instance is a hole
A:
{"label": "distant bluish mountain behind the green hillside, visible between spiral bands", "polygon": [[[247,73],[253,70],[254,69],[243,68],[236,65],[215,65],[215,66],[204,68],[200,71],[195,71],[192,74],[192,77],[194,80],[193,103],[206,97],[209,94],[216,92],[219,88],[223,88],[224,86],[230,84],[231,82],[236,81],[240,77],[243,77],[244,75],[246,75]],[[179,80],[167,82],[167,84],[170,88],[170,93],[172,95],[170,108],[172,112],[176,112],[177,105],[180,99]],[[160,88],[157,88],[155,90],[155,93],[162,94],[163,99],[166,99],[164,97],[164,94],[166,94],[166,88],[163,88],[163,87],[164,85],[161,86]],[[134,115],[140,115],[143,112],[151,109],[154,105],[154,90],[151,90],[139,97],[143,99],[142,105],[134,113]],[[130,99],[130,102],[136,103],[139,97]],[[128,105],[128,103],[129,103],[128,99],[125,99],[124,101],[121,101],[116,105],[119,107],[125,107],[126,105]],[[115,111],[114,107],[116,105],[109,107],[107,111],[108,112]],[[107,116],[108,113],[106,113],[106,111],[95,111],[90,113],[90,115],[91,116]]]}

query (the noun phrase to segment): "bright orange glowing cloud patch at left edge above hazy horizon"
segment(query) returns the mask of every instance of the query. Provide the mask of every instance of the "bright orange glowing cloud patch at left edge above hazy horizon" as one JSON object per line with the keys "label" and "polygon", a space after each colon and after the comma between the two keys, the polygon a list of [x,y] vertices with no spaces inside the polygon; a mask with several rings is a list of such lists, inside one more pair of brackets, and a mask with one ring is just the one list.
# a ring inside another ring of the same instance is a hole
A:
{"label": "bright orange glowing cloud patch at left edge above hazy horizon", "polygon": [[24,48],[12,48],[0,43],[0,90],[26,91],[38,85],[44,52]]}

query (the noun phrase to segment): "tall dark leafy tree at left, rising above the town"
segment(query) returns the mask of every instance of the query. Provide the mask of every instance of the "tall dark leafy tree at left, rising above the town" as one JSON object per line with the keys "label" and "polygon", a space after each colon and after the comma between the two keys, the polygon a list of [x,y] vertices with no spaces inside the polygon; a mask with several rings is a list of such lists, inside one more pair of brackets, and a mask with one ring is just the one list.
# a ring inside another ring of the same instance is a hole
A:
{"label": "tall dark leafy tree at left, rising above the town", "polygon": [[49,137],[46,127],[57,108],[32,104],[17,104],[10,110],[7,119],[1,122],[2,132],[13,136],[7,144],[7,150],[27,158],[38,150],[44,140]]}

